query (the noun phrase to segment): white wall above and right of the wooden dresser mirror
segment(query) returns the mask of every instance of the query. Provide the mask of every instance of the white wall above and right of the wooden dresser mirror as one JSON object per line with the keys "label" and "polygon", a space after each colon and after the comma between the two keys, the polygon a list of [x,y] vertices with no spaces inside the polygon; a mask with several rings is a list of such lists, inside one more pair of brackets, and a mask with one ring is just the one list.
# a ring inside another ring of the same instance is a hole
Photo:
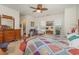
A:
{"label": "white wall above and right of the wooden dresser mirror", "polygon": [[19,11],[13,10],[11,8],[5,7],[3,5],[0,5],[0,15],[8,15],[15,18],[15,29],[20,28],[20,17],[19,17]]}

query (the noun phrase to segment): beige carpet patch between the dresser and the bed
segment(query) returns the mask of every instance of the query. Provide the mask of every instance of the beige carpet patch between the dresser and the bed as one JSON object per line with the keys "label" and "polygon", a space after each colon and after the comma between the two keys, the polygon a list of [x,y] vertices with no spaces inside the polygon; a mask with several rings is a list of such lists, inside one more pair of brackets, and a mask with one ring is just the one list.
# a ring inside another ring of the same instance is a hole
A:
{"label": "beige carpet patch between the dresser and the bed", "polygon": [[11,42],[8,45],[8,55],[21,55],[22,52],[19,50],[19,45],[20,45],[21,40],[19,41],[15,41],[15,42]]}

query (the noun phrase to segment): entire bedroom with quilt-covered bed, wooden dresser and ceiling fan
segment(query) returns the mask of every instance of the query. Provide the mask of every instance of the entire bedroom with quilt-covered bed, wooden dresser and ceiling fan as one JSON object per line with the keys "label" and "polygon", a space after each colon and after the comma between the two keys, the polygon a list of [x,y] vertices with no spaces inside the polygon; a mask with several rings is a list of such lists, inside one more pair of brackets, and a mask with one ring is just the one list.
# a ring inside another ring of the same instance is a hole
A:
{"label": "entire bedroom with quilt-covered bed, wooden dresser and ceiling fan", "polygon": [[79,55],[78,4],[4,4],[0,15],[2,54]]}

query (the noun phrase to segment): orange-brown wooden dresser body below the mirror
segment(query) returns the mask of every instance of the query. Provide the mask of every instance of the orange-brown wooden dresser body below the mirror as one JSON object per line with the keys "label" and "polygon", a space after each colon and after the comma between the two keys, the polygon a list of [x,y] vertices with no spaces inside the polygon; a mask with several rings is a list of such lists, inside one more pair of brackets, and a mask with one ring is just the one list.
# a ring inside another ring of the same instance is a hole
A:
{"label": "orange-brown wooden dresser body below the mirror", "polygon": [[20,29],[6,29],[0,31],[0,42],[11,42],[21,39]]}

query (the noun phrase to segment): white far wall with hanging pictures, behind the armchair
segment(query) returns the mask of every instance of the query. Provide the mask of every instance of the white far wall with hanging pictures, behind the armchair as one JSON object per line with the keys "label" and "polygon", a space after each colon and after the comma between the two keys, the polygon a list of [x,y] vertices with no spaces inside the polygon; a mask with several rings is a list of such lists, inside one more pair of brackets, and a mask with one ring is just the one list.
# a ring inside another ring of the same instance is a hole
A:
{"label": "white far wall with hanging pictures, behind the armchair", "polygon": [[35,27],[38,28],[39,30],[42,30],[41,28],[45,26],[46,21],[53,21],[54,27],[55,26],[63,27],[64,14],[60,13],[60,14],[44,16],[44,17],[39,17],[39,18],[34,18],[31,16],[22,16],[21,19],[22,19],[22,22],[26,21],[26,33],[28,34],[31,28],[30,21],[34,21]]}

